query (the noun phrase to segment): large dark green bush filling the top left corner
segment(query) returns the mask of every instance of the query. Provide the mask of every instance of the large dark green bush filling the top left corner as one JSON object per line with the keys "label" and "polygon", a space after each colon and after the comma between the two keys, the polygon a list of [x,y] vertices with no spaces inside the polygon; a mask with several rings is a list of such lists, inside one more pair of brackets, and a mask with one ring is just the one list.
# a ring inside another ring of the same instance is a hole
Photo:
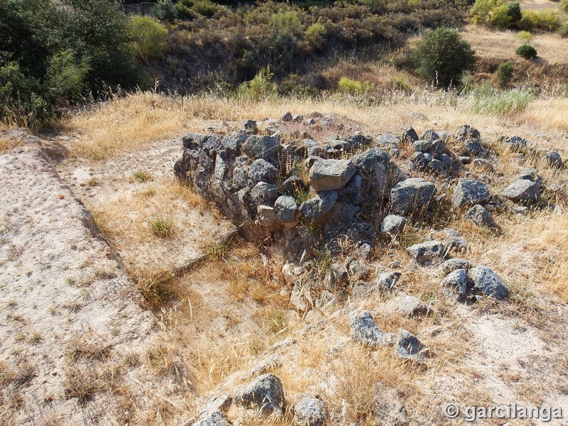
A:
{"label": "large dark green bush filling the top left corner", "polygon": [[0,1],[4,121],[47,121],[84,92],[143,84],[128,22],[111,0]]}

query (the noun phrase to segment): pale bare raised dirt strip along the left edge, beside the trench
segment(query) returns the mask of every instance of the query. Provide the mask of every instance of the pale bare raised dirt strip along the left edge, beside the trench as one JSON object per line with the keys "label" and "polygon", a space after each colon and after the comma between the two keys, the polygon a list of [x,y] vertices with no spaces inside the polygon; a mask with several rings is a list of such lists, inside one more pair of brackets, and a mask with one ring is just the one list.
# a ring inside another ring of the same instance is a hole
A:
{"label": "pale bare raised dirt strip along the left edge, beside the trench", "polygon": [[0,200],[0,423],[127,421],[153,315],[36,143],[0,155]]}

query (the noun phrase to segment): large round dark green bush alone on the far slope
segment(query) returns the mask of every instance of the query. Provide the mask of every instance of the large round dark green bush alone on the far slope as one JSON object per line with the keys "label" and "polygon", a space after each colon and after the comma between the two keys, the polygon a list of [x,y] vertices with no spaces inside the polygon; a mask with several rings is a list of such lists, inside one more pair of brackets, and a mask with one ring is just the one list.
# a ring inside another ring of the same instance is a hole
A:
{"label": "large round dark green bush alone on the far slope", "polygon": [[475,64],[471,45],[461,40],[458,32],[449,28],[428,31],[413,50],[416,71],[423,80],[449,87],[462,72]]}

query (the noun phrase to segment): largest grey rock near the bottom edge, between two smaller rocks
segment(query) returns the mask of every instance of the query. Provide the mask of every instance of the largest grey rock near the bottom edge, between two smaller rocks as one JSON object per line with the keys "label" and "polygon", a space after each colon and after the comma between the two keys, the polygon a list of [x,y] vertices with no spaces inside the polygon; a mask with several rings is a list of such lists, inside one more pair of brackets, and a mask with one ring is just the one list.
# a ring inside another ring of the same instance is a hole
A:
{"label": "largest grey rock near the bottom edge, between two smaller rocks", "polygon": [[236,405],[253,408],[261,415],[282,415],[284,388],[280,378],[271,373],[256,378],[248,385],[238,386],[233,394]]}

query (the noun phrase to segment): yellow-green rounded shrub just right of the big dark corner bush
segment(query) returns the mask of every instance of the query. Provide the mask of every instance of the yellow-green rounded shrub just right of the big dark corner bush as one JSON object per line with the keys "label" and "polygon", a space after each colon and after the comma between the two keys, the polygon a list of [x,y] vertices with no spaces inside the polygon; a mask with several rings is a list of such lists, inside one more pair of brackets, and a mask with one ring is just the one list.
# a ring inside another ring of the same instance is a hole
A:
{"label": "yellow-green rounded shrub just right of the big dark corner bush", "polygon": [[134,16],[130,28],[136,43],[136,56],[143,60],[160,58],[168,46],[168,30],[149,16]]}

